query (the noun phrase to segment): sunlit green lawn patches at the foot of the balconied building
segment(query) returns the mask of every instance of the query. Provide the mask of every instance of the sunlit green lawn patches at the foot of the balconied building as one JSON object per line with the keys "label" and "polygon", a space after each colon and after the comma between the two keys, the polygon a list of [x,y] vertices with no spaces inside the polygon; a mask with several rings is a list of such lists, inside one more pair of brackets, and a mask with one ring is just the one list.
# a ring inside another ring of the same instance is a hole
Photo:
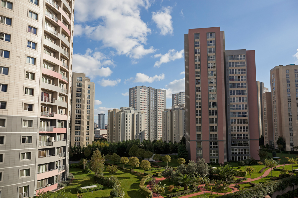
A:
{"label": "sunlit green lawn patches at the foot of the balconied building", "polygon": [[[93,180],[94,173],[85,174],[79,168],[74,168],[74,169],[70,168],[69,172],[71,172],[75,176],[75,179],[72,181],[72,184],[64,188],[65,192],[70,191],[71,193],[70,198],[77,198],[75,187],[88,186],[90,184],[95,183]],[[104,176],[109,176],[109,173],[104,172]],[[119,170],[114,176],[116,176],[121,182],[121,186],[125,192],[126,198],[144,197],[139,192],[139,183],[142,179],[141,177],[130,174],[129,172],[122,172],[121,170]],[[104,187],[102,190],[93,191],[93,197],[108,198],[110,196],[110,191],[111,191],[111,188]],[[91,192],[85,193],[84,197],[91,197]]]}

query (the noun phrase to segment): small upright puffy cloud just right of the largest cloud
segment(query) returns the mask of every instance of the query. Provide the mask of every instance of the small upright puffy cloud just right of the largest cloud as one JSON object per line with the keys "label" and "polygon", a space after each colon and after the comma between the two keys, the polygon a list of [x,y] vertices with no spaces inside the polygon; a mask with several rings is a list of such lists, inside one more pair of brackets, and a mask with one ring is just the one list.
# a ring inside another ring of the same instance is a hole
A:
{"label": "small upright puffy cloud just right of the largest cloud", "polygon": [[173,21],[170,15],[172,7],[162,7],[157,12],[152,12],[152,20],[156,23],[156,26],[160,29],[160,34],[172,34],[173,33]]}

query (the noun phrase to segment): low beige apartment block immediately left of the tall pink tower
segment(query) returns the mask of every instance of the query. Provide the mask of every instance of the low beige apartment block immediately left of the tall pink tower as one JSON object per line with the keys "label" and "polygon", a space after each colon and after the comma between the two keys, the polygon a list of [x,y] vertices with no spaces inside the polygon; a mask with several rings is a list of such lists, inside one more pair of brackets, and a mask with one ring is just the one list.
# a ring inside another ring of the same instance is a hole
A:
{"label": "low beige apartment block immediately left of the tall pink tower", "polygon": [[173,105],[162,112],[162,141],[180,142],[182,137],[185,137],[185,104]]}

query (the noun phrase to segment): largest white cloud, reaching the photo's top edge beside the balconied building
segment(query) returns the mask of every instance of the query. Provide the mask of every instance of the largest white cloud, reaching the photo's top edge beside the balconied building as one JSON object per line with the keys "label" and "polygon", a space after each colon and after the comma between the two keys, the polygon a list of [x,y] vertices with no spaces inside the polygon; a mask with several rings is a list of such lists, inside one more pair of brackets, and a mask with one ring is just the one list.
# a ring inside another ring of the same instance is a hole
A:
{"label": "largest white cloud, reaching the photo's top edge beside the balconied building", "polygon": [[[76,36],[89,37],[103,42],[103,47],[113,47],[119,55],[131,58],[142,58],[155,52],[153,47],[144,48],[147,35],[151,33],[147,24],[142,21],[140,11],[148,9],[151,0],[85,0],[76,1]],[[92,5],[92,6],[90,6]],[[87,21],[99,20],[94,26]]]}

